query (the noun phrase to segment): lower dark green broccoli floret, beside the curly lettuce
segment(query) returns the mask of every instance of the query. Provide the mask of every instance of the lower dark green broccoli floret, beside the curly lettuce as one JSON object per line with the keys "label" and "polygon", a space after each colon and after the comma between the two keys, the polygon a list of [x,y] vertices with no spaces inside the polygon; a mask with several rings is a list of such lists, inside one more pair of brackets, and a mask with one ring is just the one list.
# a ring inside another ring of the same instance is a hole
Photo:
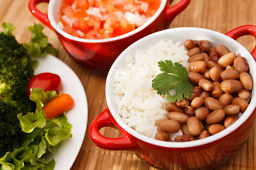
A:
{"label": "lower dark green broccoli floret, beside the curly lettuce", "polygon": [[20,146],[23,132],[19,127],[17,107],[0,101],[0,158]]}

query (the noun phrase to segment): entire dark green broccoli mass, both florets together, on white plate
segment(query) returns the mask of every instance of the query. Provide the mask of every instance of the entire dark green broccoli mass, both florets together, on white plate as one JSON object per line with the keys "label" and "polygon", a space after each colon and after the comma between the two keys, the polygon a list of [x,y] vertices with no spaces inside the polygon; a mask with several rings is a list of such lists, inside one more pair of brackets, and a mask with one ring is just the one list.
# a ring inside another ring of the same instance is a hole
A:
{"label": "entire dark green broccoli mass, both florets together, on white plate", "polygon": [[0,158],[18,148],[23,132],[17,115],[35,110],[26,95],[33,64],[15,37],[0,33]]}

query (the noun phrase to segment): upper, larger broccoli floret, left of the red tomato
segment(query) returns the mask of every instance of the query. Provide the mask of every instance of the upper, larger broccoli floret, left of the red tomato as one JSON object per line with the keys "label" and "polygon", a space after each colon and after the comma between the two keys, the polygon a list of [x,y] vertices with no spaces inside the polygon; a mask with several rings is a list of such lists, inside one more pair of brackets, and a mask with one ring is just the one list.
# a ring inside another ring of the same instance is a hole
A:
{"label": "upper, larger broccoli floret, left of the red tomato", "polygon": [[0,95],[19,100],[26,96],[33,64],[23,45],[15,37],[0,33]]}

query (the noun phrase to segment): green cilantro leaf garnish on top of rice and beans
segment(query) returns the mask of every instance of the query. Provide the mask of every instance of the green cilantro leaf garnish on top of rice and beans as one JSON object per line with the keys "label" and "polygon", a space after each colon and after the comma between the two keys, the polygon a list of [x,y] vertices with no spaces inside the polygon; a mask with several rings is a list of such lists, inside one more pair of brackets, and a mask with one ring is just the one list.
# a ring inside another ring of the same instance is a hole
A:
{"label": "green cilantro leaf garnish on top of rice and beans", "polygon": [[175,89],[177,95],[168,95],[169,102],[179,102],[189,98],[193,92],[193,87],[187,77],[187,69],[178,62],[172,63],[171,60],[158,62],[158,66],[163,73],[160,73],[152,80],[152,87],[157,90],[157,94],[166,94],[169,90]]}

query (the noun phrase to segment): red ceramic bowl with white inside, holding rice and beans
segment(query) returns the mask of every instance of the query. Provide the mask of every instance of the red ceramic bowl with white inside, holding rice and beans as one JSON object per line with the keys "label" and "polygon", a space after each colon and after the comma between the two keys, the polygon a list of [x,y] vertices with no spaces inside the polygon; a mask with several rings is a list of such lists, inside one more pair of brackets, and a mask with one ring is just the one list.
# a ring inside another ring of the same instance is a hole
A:
{"label": "red ceramic bowl with white inside, holding rice and beans", "polygon": [[[133,43],[124,50],[113,63],[106,80],[107,108],[92,121],[89,135],[92,142],[107,150],[131,150],[140,159],[151,166],[163,170],[172,170],[181,165],[185,169],[212,169],[228,161],[240,150],[250,134],[256,116],[256,91],[252,90],[251,102],[243,115],[225,130],[208,138],[183,143],[165,142],[148,138],[128,127],[116,110],[113,85],[115,71],[124,67],[125,57],[134,55],[135,51],[145,50],[161,39],[173,42],[186,39],[208,40],[211,46],[224,44],[238,56],[246,58],[250,67],[249,73],[256,85],[256,47],[250,53],[236,40],[242,35],[256,37],[256,26],[245,25],[236,28],[226,35],[204,28],[172,28],[148,35]],[[106,138],[99,133],[100,128],[112,126],[117,128],[122,137]]]}

